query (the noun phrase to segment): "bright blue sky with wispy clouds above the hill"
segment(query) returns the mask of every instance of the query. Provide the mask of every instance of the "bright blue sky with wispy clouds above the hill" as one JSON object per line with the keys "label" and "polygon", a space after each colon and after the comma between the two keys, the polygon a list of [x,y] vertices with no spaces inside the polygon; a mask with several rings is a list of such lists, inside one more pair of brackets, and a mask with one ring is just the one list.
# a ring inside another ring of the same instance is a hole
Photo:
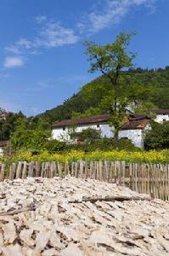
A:
{"label": "bright blue sky with wispy clouds above the hill", "polygon": [[169,65],[169,0],[1,0],[0,107],[34,115],[96,77],[84,40],[136,31],[138,67]]}

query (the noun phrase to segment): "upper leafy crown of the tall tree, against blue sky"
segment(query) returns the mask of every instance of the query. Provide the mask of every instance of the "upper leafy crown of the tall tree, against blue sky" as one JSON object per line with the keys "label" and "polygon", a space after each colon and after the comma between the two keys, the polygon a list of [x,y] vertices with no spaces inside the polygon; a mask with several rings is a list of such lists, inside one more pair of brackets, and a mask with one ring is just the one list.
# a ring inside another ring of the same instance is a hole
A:
{"label": "upper leafy crown of the tall tree, against blue sky", "polygon": [[115,78],[116,69],[132,67],[133,53],[127,53],[127,47],[134,33],[121,32],[112,44],[98,45],[94,42],[85,42],[86,54],[90,61],[89,72],[100,71],[112,79]]}

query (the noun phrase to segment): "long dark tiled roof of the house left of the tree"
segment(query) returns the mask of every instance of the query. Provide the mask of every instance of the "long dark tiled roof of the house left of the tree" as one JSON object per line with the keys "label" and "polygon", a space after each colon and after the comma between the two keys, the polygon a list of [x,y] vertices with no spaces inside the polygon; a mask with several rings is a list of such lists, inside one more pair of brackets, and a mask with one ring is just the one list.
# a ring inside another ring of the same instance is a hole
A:
{"label": "long dark tiled roof of the house left of the tree", "polygon": [[110,118],[110,114],[102,114],[102,115],[96,115],[96,116],[90,116],[90,117],[84,117],[81,119],[65,119],[60,122],[55,122],[52,127],[64,127],[69,125],[85,125],[85,124],[97,124],[97,123],[104,123],[107,122]]}

